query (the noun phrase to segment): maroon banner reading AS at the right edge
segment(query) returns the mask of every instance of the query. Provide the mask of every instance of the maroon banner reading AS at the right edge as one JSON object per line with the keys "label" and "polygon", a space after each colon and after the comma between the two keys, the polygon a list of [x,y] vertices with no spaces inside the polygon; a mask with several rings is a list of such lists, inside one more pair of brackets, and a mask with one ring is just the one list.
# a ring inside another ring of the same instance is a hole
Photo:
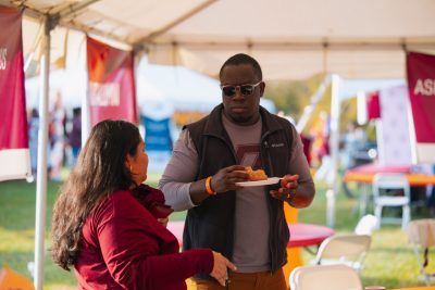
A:
{"label": "maroon banner reading AS at the right edge", "polygon": [[408,52],[407,77],[419,163],[435,163],[435,55]]}

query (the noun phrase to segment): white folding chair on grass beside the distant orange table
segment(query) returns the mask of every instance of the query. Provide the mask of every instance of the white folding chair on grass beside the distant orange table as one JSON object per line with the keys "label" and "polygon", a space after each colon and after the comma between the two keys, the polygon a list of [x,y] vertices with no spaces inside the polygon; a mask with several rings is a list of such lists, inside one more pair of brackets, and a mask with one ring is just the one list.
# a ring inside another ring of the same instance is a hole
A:
{"label": "white folding chair on grass beside the distant orange table", "polygon": [[[386,192],[386,190],[390,190]],[[393,192],[393,194],[391,194]],[[405,230],[411,220],[411,189],[405,174],[380,173],[373,179],[374,215],[378,219],[378,227],[382,223],[394,223],[401,220],[401,228]],[[401,206],[402,217],[382,218],[382,210],[385,206]]]}

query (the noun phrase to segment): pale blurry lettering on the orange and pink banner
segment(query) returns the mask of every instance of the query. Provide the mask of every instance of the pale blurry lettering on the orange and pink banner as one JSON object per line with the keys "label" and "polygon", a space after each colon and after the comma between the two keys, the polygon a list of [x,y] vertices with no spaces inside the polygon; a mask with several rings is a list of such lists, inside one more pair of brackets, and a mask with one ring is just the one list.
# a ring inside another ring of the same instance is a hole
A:
{"label": "pale blurry lettering on the orange and pink banner", "polygon": [[89,102],[92,106],[119,106],[121,96],[117,83],[90,83]]}

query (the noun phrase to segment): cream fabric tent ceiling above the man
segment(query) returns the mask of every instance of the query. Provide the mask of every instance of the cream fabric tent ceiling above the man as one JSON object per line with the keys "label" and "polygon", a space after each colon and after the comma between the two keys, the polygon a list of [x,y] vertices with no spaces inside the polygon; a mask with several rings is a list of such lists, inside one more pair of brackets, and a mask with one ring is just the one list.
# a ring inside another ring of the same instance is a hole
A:
{"label": "cream fabric tent ceiling above the man", "polygon": [[[22,2],[0,0],[15,5]],[[406,50],[435,53],[433,0],[24,3],[41,13],[89,3],[65,13],[60,24],[145,49],[152,63],[179,64],[214,77],[222,63],[237,52],[257,58],[268,79],[306,78],[318,73],[346,78],[405,77]]]}

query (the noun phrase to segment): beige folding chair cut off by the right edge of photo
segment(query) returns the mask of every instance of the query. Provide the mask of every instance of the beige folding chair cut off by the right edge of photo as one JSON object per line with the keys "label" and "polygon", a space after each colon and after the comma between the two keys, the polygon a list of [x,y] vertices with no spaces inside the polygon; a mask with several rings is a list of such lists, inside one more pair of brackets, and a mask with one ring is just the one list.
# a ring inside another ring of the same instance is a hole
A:
{"label": "beige folding chair cut off by the right edge of photo", "polygon": [[412,220],[408,227],[408,240],[413,245],[420,266],[419,280],[424,280],[426,286],[430,286],[435,281],[435,273],[426,272],[428,251],[435,245],[435,219]]}

